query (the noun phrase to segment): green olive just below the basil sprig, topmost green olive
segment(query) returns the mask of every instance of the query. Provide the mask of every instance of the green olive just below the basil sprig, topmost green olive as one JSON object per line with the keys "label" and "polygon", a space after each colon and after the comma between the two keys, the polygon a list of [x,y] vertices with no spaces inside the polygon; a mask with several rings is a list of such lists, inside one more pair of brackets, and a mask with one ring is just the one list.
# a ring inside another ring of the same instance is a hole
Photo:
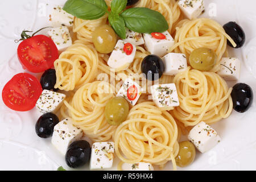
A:
{"label": "green olive just below the basil sprig, topmost green olive", "polygon": [[93,44],[98,52],[110,53],[117,43],[117,35],[112,27],[104,24],[93,32]]}

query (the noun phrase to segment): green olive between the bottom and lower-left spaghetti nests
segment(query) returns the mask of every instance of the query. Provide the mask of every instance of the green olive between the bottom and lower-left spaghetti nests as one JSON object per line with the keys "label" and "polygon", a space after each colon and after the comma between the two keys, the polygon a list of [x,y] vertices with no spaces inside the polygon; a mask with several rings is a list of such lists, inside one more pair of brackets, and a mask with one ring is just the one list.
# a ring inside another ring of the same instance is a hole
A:
{"label": "green olive between the bottom and lower-left spaghetti nests", "polygon": [[106,104],[105,117],[109,125],[120,125],[127,118],[129,104],[123,97],[114,97]]}

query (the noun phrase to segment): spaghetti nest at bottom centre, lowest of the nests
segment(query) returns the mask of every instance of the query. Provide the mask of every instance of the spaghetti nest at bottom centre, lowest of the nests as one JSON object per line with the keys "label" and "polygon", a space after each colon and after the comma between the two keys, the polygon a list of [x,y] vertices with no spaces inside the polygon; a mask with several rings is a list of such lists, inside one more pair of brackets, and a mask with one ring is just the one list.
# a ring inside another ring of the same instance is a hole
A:
{"label": "spaghetti nest at bottom centre, lowest of the nests", "polygon": [[148,162],[163,166],[179,151],[177,125],[171,114],[154,102],[135,105],[114,133],[115,154],[125,163]]}

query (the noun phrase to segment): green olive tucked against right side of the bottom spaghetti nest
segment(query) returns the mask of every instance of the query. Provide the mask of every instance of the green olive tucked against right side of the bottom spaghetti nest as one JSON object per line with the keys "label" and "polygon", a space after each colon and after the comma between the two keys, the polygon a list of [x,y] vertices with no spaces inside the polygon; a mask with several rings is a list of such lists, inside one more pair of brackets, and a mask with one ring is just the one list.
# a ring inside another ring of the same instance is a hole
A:
{"label": "green olive tucked against right side of the bottom spaghetti nest", "polygon": [[177,166],[186,167],[194,161],[196,149],[193,143],[189,141],[180,142],[179,146],[179,154],[176,156],[175,161]]}

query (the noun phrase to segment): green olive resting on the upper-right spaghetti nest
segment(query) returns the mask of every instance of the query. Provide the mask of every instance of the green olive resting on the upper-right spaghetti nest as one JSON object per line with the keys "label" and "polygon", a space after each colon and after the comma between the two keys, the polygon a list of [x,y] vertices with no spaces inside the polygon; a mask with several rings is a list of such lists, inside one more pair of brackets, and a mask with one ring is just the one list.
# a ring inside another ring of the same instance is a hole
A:
{"label": "green olive resting on the upper-right spaghetti nest", "polygon": [[199,71],[210,71],[217,61],[217,55],[212,49],[198,48],[189,56],[189,64]]}

